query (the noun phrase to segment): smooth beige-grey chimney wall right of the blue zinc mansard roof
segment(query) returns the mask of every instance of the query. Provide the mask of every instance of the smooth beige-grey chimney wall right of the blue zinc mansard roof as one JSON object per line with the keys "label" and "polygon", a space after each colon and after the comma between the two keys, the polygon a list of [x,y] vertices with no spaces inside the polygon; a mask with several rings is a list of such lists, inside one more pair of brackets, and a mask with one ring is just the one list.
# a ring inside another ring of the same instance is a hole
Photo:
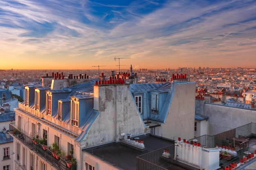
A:
{"label": "smooth beige-grey chimney wall right of the blue zinc mansard roof", "polygon": [[192,139],[195,125],[195,83],[176,82],[175,91],[165,124],[162,124],[162,136],[177,140],[178,137]]}

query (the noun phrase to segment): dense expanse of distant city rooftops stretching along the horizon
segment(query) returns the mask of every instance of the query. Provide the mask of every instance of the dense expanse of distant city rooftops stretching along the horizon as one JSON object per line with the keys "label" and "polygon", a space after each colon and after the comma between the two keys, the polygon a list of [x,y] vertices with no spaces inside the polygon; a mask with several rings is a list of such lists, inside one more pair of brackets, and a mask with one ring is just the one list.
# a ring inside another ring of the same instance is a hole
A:
{"label": "dense expanse of distant city rooftops stretching along the horizon", "polygon": [[[0,70],[0,80],[2,88],[12,85],[14,82],[25,85],[28,83],[41,84],[42,76],[52,73],[63,73],[67,78],[70,74],[87,75],[89,79],[98,79],[101,73],[106,78],[111,75],[112,70],[92,69],[92,70]],[[115,71],[118,73],[119,71]],[[121,73],[130,73],[130,69],[121,69]],[[186,74],[189,81],[196,82],[197,87],[203,86],[208,89],[218,88],[217,86],[230,86],[233,91],[240,91],[243,88],[256,88],[256,69],[255,68],[178,68],[165,70],[149,70],[147,68],[133,69],[132,72],[137,73],[138,83],[153,83],[156,80],[168,82],[172,74]]]}

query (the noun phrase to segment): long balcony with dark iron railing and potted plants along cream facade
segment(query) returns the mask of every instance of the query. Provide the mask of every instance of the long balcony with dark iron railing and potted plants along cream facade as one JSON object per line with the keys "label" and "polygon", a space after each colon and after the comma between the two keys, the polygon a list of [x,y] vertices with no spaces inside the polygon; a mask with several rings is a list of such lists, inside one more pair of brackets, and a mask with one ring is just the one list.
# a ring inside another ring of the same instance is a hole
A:
{"label": "long balcony with dark iron railing and potted plants along cream facade", "polygon": [[76,170],[76,165],[72,165],[71,168],[67,167],[67,162],[64,159],[56,159],[52,156],[52,151],[46,148],[43,150],[43,146],[41,144],[34,144],[32,139],[25,135],[25,133],[18,130],[18,128],[14,127],[12,124],[9,124],[9,131],[16,139],[22,141],[26,146],[30,147],[36,154],[39,154],[41,157],[46,159],[49,164],[55,167],[56,170]]}

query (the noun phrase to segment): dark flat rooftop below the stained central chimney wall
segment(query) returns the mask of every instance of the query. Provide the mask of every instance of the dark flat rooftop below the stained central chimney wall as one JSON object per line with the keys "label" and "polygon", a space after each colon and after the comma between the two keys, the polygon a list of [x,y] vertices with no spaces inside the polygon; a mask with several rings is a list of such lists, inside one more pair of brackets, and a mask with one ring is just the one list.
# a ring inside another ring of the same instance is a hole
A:
{"label": "dark flat rooftop below the stained central chimney wall", "polygon": [[[142,135],[139,139],[144,140],[145,149],[138,150],[131,148],[121,142],[113,142],[103,146],[84,149],[83,151],[93,154],[95,157],[104,159],[104,161],[124,170],[136,170],[136,157],[144,155],[167,146],[173,145],[174,141],[152,135]],[[161,165],[166,169],[185,170],[171,163]]]}

